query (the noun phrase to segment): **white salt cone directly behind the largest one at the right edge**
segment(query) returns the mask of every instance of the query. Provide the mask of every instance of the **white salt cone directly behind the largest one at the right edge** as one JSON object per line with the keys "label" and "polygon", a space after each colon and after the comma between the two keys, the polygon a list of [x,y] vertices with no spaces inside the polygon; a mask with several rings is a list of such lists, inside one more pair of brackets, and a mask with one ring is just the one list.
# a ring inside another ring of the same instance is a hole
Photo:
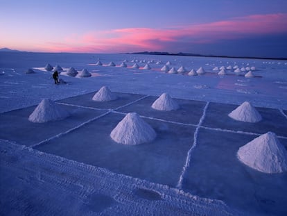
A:
{"label": "white salt cone directly behind the largest one at the right edge", "polygon": [[247,101],[229,113],[228,116],[237,121],[251,123],[260,122],[262,119],[260,113]]}

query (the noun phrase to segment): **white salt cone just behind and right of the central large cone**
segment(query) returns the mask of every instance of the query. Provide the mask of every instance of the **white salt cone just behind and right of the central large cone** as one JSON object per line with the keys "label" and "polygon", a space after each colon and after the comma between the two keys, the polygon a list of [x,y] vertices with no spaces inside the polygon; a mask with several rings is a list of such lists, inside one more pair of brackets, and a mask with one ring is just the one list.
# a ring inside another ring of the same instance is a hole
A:
{"label": "white salt cone just behind and right of the central large cone", "polygon": [[155,102],[153,102],[152,108],[155,110],[171,111],[180,108],[178,104],[169,96],[169,94],[162,94]]}

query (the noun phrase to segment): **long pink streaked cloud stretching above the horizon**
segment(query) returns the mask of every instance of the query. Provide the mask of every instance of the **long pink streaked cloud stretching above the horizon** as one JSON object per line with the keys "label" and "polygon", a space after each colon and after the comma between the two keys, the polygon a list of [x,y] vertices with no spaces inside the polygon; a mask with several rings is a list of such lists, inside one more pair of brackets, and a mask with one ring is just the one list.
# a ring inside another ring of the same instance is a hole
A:
{"label": "long pink streaked cloud stretching above the horizon", "polygon": [[[287,14],[250,15],[220,22],[180,26],[170,29],[120,28],[70,35],[53,51],[128,52],[166,50],[168,44],[210,44],[258,35],[287,33]],[[51,45],[51,44],[50,44]]]}

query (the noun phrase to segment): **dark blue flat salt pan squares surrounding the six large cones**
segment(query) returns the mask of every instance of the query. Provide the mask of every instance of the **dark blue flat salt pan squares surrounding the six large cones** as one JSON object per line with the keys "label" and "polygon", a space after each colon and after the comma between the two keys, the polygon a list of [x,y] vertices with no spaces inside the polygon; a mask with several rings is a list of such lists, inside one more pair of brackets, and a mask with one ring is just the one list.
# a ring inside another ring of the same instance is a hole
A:
{"label": "dark blue flat salt pan squares surrounding the six large cones", "polygon": [[[180,110],[162,112],[150,108],[156,97],[116,94],[119,99],[110,102],[92,101],[94,93],[58,101],[69,110],[71,117],[57,122],[28,122],[35,106],[2,113],[0,138],[27,146],[48,139],[34,148],[176,187],[207,103],[176,99]],[[263,117],[261,122],[237,122],[228,117],[234,108],[234,105],[209,103],[182,189],[201,197],[223,200],[252,214],[287,215],[287,174],[263,174],[236,158],[239,147],[256,138],[256,134],[267,131],[279,135],[279,141],[287,148],[287,119],[279,110],[257,108]],[[128,146],[110,138],[112,129],[130,112],[139,113],[155,129],[157,138],[153,142]],[[94,120],[89,122],[90,119]],[[85,122],[87,124],[83,124]],[[66,131],[69,133],[64,133]]]}

